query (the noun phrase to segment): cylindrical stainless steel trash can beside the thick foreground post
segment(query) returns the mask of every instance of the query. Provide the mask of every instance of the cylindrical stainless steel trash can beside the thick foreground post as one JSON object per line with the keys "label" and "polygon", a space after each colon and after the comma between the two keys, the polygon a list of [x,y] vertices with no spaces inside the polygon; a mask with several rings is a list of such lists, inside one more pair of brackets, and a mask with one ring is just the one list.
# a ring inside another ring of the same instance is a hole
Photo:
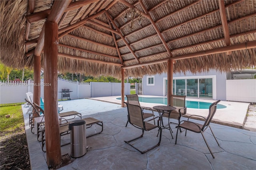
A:
{"label": "cylindrical stainless steel trash can beside the thick foreground post", "polygon": [[78,158],[86,154],[86,122],[77,120],[70,122],[68,125],[70,130],[70,156]]}

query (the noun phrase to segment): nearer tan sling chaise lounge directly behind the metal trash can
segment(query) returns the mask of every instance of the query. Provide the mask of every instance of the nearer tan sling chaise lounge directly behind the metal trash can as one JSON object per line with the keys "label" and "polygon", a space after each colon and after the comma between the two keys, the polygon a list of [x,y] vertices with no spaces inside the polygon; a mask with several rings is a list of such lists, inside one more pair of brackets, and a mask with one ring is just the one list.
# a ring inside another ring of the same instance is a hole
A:
{"label": "nearer tan sling chaise lounge directly behind the metal trash can", "polygon": [[[93,136],[93,135],[95,135],[95,134],[99,134],[99,133],[101,133],[101,132],[103,131],[103,122],[102,122],[102,121],[99,121],[98,119],[95,119],[95,118],[93,118],[93,117],[84,118],[84,119],[82,119],[82,120],[84,120],[84,121],[86,122],[86,128],[90,128],[90,127],[92,127],[92,125],[99,125],[99,126],[101,127],[101,131],[100,131],[100,132],[96,132],[96,133],[94,133],[94,134],[87,135],[86,138],[87,138],[87,137],[90,137],[90,136]],[[60,125],[60,136],[61,136],[62,134],[68,134],[68,133],[70,133],[70,130],[69,130],[69,128],[68,128],[69,123],[71,123],[71,122],[64,123],[64,124],[61,124],[61,125]],[[42,150],[43,150],[44,152],[46,152],[46,151],[44,150],[44,145],[45,145],[45,135],[44,135],[44,131],[45,131],[45,130],[42,130]],[[70,142],[69,142],[69,143],[66,143],[66,144],[70,144]],[[63,144],[63,145],[61,145],[61,146],[64,146],[64,145],[66,145],[66,144]]]}

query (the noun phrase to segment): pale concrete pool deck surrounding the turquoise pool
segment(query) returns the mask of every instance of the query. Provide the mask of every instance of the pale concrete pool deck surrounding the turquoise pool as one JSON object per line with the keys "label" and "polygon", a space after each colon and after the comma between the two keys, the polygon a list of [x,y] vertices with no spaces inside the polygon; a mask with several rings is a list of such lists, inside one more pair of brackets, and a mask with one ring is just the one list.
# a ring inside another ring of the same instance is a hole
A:
{"label": "pale concrete pool deck surrounding the turquoise pool", "polygon": [[[139,97],[162,97],[162,96],[150,96],[150,95],[138,95]],[[120,96],[110,96],[110,97],[94,97],[90,99],[99,100],[99,101],[106,101],[110,103],[121,104],[121,100],[118,100]],[[216,100],[210,99],[193,99],[193,98],[186,98],[187,101],[202,101],[202,102],[209,102],[213,103]],[[220,101],[221,105],[226,106],[224,109],[217,109],[212,122],[217,123],[220,125],[227,125],[230,127],[236,128],[243,128],[244,121],[246,118],[246,113],[250,103],[246,102],[234,102],[234,101]],[[140,105],[143,107],[153,107],[156,105],[164,105],[164,104],[156,104],[156,103],[144,103],[140,102]],[[187,108],[186,115],[200,115],[207,117],[208,109],[192,109]],[[255,127],[256,128],[256,127]]]}

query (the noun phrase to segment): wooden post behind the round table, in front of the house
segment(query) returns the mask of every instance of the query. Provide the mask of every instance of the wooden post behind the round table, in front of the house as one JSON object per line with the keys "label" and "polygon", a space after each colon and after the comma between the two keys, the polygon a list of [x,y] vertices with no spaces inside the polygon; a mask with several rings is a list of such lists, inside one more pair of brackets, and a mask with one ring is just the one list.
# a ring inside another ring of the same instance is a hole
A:
{"label": "wooden post behind the round table, in front of the house", "polygon": [[167,104],[170,104],[172,89],[173,89],[173,60],[167,61]]}

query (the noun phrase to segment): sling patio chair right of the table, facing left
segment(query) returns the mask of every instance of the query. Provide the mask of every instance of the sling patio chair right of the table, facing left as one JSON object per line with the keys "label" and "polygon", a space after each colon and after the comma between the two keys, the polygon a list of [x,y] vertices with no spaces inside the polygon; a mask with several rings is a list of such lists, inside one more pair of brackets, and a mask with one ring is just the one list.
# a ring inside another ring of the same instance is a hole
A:
{"label": "sling patio chair right of the table, facing left", "polygon": [[[212,154],[212,157],[214,157],[213,153],[212,153],[212,150],[210,149],[210,146],[208,145],[207,141],[206,141],[206,138],[204,137],[204,132],[206,131],[206,129],[209,127],[211,132],[212,132],[212,128],[210,127],[210,122],[212,120],[212,117],[214,116],[216,110],[217,110],[217,104],[220,102],[220,100],[212,103],[209,107],[209,114],[208,114],[208,117],[205,118],[205,117],[202,117],[202,116],[198,116],[198,115],[190,115],[188,117],[188,120],[187,121],[180,121],[179,125],[178,125],[178,129],[177,129],[177,134],[176,134],[176,141],[175,141],[175,144],[177,144],[177,138],[178,138],[178,131],[179,131],[179,128],[184,128],[186,129],[186,133],[185,133],[185,136],[187,134],[187,130],[190,130],[191,132],[196,132],[196,133],[201,133],[203,138],[204,138],[204,142],[206,143],[208,149],[210,150],[211,154]],[[195,123],[193,121],[190,121],[191,117],[201,117],[203,118],[205,121],[204,121],[204,124],[199,124],[199,123]],[[212,132],[212,135],[214,136],[217,144],[220,146],[220,144],[218,143],[214,133]]]}

